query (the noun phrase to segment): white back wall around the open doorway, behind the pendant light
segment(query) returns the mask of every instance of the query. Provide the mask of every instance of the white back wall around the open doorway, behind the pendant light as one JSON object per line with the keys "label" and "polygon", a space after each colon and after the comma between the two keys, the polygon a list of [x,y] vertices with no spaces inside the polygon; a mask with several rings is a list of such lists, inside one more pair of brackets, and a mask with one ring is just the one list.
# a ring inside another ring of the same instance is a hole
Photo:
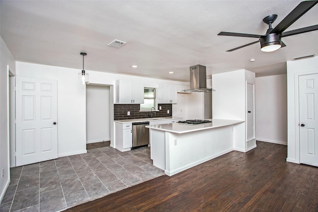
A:
{"label": "white back wall around the open doorway, behind the pendant light", "polygon": [[[59,157],[86,152],[86,89],[78,84],[78,73],[81,70],[63,67],[45,66],[17,62],[17,76],[50,78],[58,80],[58,154]],[[186,82],[160,80],[140,76],[89,71],[89,82],[92,84],[110,85],[110,104],[115,80],[135,80],[144,82],[145,86],[159,87],[160,84],[180,84]],[[174,114],[172,114],[174,115]],[[113,120],[113,108],[110,105],[110,120]],[[113,123],[110,123],[111,137]],[[112,138],[111,138],[112,141]]]}

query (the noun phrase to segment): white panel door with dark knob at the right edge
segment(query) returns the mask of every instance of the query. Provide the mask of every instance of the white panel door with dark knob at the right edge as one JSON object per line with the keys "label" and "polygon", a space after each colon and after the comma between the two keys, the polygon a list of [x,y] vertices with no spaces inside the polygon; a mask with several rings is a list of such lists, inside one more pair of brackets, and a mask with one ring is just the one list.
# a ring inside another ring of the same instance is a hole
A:
{"label": "white panel door with dark knob at the right edge", "polygon": [[318,73],[299,76],[300,162],[318,166]]}

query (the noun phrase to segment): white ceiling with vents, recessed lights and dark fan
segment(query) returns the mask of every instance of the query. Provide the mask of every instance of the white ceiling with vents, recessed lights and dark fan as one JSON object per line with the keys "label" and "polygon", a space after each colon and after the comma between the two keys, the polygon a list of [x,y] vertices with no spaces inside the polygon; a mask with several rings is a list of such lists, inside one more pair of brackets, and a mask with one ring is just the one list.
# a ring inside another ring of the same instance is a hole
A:
{"label": "white ceiling with vents, recessed lights and dark fan", "polygon": [[[1,0],[0,34],[16,61],[79,71],[79,53],[86,52],[85,70],[93,71],[188,81],[189,67],[200,64],[207,74],[246,69],[273,75],[286,73],[292,57],[318,53],[318,30],[285,37],[287,46],[271,53],[261,52],[259,43],[226,52],[258,39],[217,34],[265,34],[265,16],[278,15],[274,28],[300,2]],[[285,31],[316,24],[318,5]],[[127,44],[108,47],[114,39]]]}

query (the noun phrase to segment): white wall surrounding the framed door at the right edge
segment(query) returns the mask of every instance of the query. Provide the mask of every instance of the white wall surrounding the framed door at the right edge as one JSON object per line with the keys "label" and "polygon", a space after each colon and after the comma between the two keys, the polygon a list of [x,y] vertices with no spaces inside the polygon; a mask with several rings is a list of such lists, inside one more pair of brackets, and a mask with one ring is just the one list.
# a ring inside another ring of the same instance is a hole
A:
{"label": "white wall surrounding the framed door at the right edge", "polygon": [[300,163],[298,77],[318,73],[318,57],[287,61],[287,161]]}

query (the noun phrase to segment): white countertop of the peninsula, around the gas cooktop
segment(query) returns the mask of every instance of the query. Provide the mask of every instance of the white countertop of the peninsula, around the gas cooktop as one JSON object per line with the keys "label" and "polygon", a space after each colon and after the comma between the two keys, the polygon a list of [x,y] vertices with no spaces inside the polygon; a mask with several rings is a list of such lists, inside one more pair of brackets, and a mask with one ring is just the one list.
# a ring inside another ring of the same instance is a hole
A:
{"label": "white countertop of the peninsula, around the gas cooktop", "polygon": [[240,124],[244,122],[241,120],[227,120],[227,119],[207,119],[207,120],[210,120],[212,122],[205,123],[205,124],[197,124],[197,125],[182,124],[182,123],[175,122],[171,124],[146,126],[146,128],[166,131],[170,133],[182,134],[182,133],[189,133],[189,132],[207,130],[212,128],[219,128],[219,127],[224,127],[229,125],[235,125],[235,124]]}

